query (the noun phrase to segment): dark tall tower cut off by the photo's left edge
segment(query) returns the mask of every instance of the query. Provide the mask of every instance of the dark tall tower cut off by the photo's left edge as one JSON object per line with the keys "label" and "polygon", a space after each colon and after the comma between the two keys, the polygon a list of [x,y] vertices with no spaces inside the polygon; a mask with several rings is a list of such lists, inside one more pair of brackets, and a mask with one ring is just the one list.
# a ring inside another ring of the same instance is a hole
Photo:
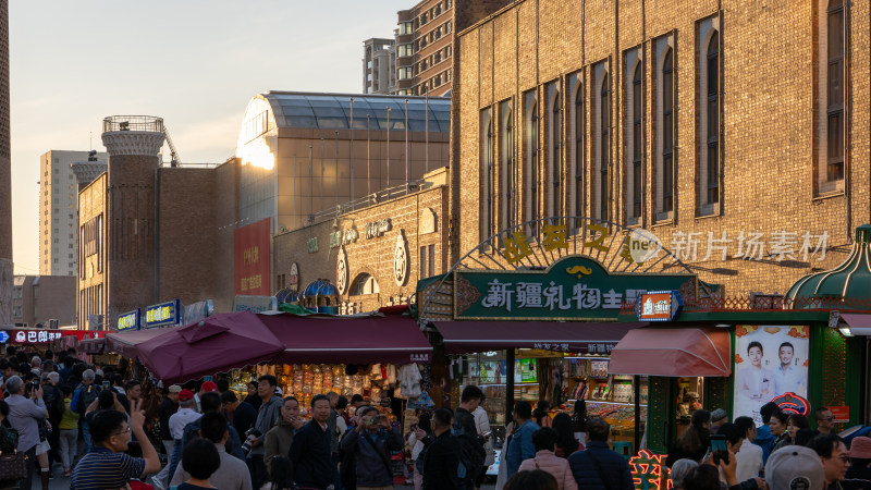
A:
{"label": "dark tall tower cut off by the photo's left edge", "polygon": [[0,0],[0,323],[12,322],[12,157],[9,126],[9,0]]}

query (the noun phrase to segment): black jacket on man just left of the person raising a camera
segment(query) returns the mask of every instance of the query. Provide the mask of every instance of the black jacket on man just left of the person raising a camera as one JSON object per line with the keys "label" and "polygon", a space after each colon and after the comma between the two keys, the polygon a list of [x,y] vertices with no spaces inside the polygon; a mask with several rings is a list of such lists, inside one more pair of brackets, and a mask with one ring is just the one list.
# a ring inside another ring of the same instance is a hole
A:
{"label": "black jacket on man just left of the person raising a camera", "polygon": [[297,486],[323,490],[333,482],[330,430],[321,429],[317,420],[309,421],[294,434],[287,456]]}

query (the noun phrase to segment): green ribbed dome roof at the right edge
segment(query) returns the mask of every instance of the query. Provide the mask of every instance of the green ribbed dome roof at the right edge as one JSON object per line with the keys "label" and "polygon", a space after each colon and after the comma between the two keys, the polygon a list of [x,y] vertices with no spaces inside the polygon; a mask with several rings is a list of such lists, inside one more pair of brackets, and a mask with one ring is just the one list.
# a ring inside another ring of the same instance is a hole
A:
{"label": "green ribbed dome roof at the right edge", "polygon": [[[841,266],[827,271],[817,272],[799,279],[786,293],[786,304],[796,308],[809,307],[802,301],[810,298],[824,299],[814,307],[837,309],[850,308],[855,302],[871,298],[871,224],[862,224],[856,229],[856,243],[852,252]],[[798,304],[793,302],[798,299]],[[843,303],[845,302],[846,303]]]}

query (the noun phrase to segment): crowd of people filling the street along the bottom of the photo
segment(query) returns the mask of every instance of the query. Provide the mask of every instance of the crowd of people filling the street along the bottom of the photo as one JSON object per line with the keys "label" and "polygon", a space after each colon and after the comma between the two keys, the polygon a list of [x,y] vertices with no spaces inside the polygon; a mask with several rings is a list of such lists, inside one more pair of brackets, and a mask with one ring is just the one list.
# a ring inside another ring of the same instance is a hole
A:
{"label": "crowd of people filling the street along the bottom of the photo", "polygon": [[[392,455],[410,448],[415,490],[473,490],[494,462],[494,437],[478,387],[458,406],[421,413],[406,434],[363,396],[319,394],[300,407],[273,376],[241,400],[223,378],[179,385],[137,380],[130,366],[91,366],[74,351],[8,347],[0,358],[0,451],[17,452],[21,478],[0,488],[41,488],[58,474],[85,489],[391,489]],[[611,427],[581,413],[551,417],[517,402],[502,446],[499,490],[635,488]],[[871,489],[871,439],[850,448],[834,417],[763,406],[764,425],[725,411],[691,412],[670,448],[671,483],[686,490]],[[307,419],[310,417],[310,419]],[[579,432],[580,431],[580,432]],[[582,433],[581,433],[582,432]],[[162,453],[162,454],[161,454]]]}

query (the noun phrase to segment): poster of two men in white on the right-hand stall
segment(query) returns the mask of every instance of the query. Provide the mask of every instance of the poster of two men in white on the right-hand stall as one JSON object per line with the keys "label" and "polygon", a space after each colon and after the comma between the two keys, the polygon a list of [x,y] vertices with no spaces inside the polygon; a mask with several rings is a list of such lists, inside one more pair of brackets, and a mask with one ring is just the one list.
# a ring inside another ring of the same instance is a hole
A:
{"label": "poster of two men in white on the right-hand stall", "polygon": [[735,329],[735,411],[762,425],[759,409],[784,393],[808,396],[808,327]]}

